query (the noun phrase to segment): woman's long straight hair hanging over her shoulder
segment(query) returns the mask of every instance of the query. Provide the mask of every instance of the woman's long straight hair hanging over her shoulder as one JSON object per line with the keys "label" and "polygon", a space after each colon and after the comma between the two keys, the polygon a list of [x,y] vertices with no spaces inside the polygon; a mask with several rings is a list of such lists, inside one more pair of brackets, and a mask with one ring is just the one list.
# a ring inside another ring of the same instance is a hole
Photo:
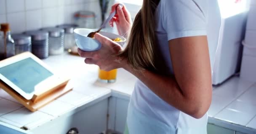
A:
{"label": "woman's long straight hair hanging over her shoulder", "polygon": [[127,58],[135,70],[155,69],[155,9],[160,0],[143,0],[143,5],[136,15],[128,43],[118,54]]}

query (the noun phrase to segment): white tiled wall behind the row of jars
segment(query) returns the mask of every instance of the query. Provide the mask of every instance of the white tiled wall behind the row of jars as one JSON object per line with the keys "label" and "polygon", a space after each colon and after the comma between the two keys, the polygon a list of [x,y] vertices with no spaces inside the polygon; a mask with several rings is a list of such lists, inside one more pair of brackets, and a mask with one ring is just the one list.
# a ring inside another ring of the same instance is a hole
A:
{"label": "white tiled wall behind the row of jars", "polygon": [[96,27],[100,26],[98,0],[0,0],[0,22],[10,23],[12,32],[19,33],[63,23],[75,23],[74,13],[79,10],[95,12]]}

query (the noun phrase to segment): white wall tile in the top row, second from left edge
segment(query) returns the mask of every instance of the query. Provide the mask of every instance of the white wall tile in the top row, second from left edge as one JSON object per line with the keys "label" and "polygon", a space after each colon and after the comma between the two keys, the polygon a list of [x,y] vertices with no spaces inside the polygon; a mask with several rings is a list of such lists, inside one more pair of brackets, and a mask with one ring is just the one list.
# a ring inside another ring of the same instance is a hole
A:
{"label": "white wall tile in the top row, second from left edge", "polygon": [[25,10],[24,0],[6,0],[7,1],[7,13],[15,13]]}

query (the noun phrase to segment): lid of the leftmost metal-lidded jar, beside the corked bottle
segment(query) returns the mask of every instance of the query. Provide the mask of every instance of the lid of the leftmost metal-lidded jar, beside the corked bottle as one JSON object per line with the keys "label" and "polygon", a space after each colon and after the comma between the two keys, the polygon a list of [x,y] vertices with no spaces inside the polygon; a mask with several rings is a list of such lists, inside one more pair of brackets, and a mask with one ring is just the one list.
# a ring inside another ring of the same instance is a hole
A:
{"label": "lid of the leftmost metal-lidded jar, beside the corked bottle", "polygon": [[15,45],[31,44],[31,36],[25,34],[12,35]]}

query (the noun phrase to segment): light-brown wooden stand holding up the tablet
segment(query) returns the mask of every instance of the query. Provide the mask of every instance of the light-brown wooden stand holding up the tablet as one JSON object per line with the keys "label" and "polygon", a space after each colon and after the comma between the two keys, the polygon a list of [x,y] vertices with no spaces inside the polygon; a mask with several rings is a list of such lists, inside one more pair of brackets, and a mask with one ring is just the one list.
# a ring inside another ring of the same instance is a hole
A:
{"label": "light-brown wooden stand holding up the tablet", "polygon": [[[72,90],[73,86],[68,83],[67,80],[64,83],[61,83],[57,87],[49,88],[45,90],[45,92],[36,92],[35,95],[31,100],[27,100],[22,97],[19,93],[13,90],[10,86],[5,84],[3,81],[0,81],[0,88],[5,90],[8,94],[10,94],[13,98],[15,98],[19,103],[24,105],[30,111],[34,112],[37,111],[39,108],[45,106],[46,104],[50,103],[51,101],[55,100],[56,98],[64,95],[65,93]],[[1,89],[0,89],[1,90]]]}

